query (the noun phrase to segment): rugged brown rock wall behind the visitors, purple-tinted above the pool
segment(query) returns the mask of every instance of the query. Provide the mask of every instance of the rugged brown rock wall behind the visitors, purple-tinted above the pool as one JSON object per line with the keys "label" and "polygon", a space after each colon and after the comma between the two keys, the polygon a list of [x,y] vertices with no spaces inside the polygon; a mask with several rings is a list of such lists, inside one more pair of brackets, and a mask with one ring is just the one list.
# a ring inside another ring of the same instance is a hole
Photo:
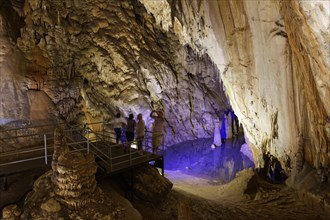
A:
{"label": "rugged brown rock wall behind the visitors, purple-tinted above the pool", "polygon": [[210,57],[162,30],[138,0],[26,0],[17,11],[16,45],[67,121],[121,111],[142,113],[150,127],[150,111],[163,110],[173,144],[212,135],[229,108]]}

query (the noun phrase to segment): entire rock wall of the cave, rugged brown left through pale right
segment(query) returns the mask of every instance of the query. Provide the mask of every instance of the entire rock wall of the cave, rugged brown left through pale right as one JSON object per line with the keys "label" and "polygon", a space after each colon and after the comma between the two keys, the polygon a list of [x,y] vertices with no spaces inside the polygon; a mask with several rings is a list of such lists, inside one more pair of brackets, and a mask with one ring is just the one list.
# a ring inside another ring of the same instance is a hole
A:
{"label": "entire rock wall of the cave, rugged brown left through pale right", "polygon": [[[142,113],[150,126],[155,109],[173,144],[213,136],[232,106],[256,164],[270,152],[329,166],[328,1],[6,2],[2,124],[38,109],[70,122]],[[31,90],[49,105],[32,108]]]}

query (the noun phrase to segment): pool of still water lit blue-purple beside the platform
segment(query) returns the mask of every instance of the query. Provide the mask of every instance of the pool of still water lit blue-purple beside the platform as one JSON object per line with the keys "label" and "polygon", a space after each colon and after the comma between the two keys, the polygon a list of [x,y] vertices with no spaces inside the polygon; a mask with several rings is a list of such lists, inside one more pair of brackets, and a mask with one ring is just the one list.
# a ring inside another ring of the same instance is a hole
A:
{"label": "pool of still water lit blue-purple beside the platform", "polygon": [[211,178],[221,183],[234,179],[237,172],[254,167],[254,163],[240,152],[244,137],[227,140],[212,149],[213,138],[198,139],[173,145],[165,151],[165,170]]}

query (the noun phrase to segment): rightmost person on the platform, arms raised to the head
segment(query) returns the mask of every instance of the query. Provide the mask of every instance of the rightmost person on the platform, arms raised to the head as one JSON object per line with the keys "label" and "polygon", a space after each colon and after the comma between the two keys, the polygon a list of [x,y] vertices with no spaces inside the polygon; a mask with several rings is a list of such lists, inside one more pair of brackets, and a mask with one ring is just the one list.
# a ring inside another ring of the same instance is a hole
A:
{"label": "rightmost person on the platform, arms raised to the head", "polygon": [[152,124],[152,152],[157,153],[163,141],[164,115],[161,111],[152,111],[150,117],[154,119]]}

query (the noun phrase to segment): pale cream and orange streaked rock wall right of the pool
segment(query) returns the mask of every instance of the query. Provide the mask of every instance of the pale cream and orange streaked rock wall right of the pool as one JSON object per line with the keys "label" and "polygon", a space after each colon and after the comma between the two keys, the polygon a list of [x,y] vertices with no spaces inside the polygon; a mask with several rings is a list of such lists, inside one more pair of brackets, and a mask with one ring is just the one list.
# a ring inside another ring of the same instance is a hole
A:
{"label": "pale cream and orange streaked rock wall right of the pool", "polygon": [[270,152],[329,166],[329,2],[171,2],[183,41],[218,66],[257,165]]}

